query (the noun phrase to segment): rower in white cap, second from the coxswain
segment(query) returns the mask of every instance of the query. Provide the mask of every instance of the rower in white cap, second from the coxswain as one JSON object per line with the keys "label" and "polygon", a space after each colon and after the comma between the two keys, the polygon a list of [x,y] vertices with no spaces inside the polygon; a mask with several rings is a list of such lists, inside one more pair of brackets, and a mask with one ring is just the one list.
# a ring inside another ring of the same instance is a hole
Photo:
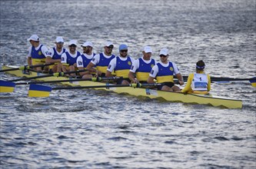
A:
{"label": "rower in white cap, second from the coxswain", "polygon": [[142,54],[143,56],[135,60],[131,65],[128,77],[132,83],[147,83],[151,68],[153,68],[156,63],[155,59],[151,58],[152,49],[150,46],[145,46]]}

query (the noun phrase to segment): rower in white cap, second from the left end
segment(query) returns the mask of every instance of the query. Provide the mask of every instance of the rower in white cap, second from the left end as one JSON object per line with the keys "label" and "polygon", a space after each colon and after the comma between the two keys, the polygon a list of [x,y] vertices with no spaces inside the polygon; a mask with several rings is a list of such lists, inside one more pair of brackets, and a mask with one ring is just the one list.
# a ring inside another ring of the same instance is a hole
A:
{"label": "rower in white cap, second from the left end", "polygon": [[45,59],[45,63],[55,63],[55,65],[49,66],[50,73],[57,72],[58,63],[61,63],[62,54],[66,51],[66,49],[63,48],[63,45],[64,39],[58,36],[55,40],[55,47],[51,48],[50,51],[48,51],[48,56]]}

